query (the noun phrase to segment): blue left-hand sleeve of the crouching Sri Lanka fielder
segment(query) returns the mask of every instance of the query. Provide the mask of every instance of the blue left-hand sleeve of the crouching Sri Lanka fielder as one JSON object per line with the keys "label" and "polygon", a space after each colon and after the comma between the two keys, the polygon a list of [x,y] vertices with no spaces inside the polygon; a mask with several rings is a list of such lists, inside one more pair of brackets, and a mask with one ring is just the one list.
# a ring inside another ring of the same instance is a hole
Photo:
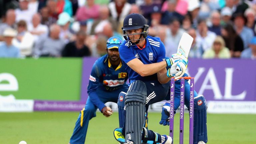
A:
{"label": "blue left-hand sleeve of the crouching Sri Lanka fielder", "polygon": [[97,63],[95,62],[92,67],[91,75],[89,78],[88,91],[87,91],[92,103],[96,105],[100,111],[102,110],[103,107],[105,107],[105,104],[99,99],[99,96],[96,93],[96,90],[100,84],[100,77],[102,76],[101,73],[102,73],[101,70],[97,66]]}

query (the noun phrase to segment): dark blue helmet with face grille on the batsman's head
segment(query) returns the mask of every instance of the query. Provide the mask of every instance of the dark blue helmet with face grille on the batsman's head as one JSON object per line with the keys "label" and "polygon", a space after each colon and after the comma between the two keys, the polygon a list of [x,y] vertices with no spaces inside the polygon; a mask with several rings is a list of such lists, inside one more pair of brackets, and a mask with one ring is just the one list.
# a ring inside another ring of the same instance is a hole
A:
{"label": "dark blue helmet with face grille on the batsman's head", "polygon": [[[127,30],[134,30],[134,29],[142,29],[141,33],[134,33],[134,34],[127,34]],[[148,28],[147,21],[141,14],[132,13],[125,17],[123,23],[123,37],[126,41],[129,41],[131,45],[136,45],[139,43],[140,40],[145,39],[148,36]],[[132,43],[129,40],[128,36],[140,34],[142,37],[138,39],[137,43]]]}

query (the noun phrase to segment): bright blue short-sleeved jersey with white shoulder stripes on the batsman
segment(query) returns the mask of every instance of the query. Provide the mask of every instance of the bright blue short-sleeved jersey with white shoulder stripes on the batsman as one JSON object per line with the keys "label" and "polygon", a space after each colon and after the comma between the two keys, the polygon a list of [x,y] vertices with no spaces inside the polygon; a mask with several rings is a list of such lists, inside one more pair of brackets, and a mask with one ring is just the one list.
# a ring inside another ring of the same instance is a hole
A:
{"label": "bright blue short-sleeved jersey with white shoulder stripes on the batsman", "polygon": [[151,64],[165,60],[165,47],[160,38],[147,36],[145,40],[146,44],[142,49],[137,45],[130,46],[126,41],[123,41],[119,46],[120,58],[128,72],[130,83],[135,80],[147,81],[157,79],[157,74],[142,77],[126,64],[129,61],[138,58],[143,64]]}

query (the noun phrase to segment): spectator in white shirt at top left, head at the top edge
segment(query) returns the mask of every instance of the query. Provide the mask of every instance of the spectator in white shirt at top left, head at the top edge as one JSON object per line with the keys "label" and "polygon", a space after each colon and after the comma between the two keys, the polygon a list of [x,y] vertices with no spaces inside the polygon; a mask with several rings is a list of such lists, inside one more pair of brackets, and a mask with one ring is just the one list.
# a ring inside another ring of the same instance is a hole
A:
{"label": "spectator in white shirt at top left, head at the top edge", "polygon": [[32,16],[35,13],[28,9],[29,0],[19,0],[19,2],[20,2],[20,8],[15,10],[16,22],[19,22],[20,20],[24,20],[28,25],[31,23]]}

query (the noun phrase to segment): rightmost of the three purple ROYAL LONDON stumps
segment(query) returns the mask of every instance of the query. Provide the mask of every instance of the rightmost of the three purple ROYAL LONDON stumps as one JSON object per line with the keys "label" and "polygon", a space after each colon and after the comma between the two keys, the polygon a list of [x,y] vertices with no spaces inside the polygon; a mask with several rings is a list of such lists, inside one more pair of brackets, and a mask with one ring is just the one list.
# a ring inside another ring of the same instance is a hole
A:
{"label": "rightmost of the three purple ROYAL LONDON stumps", "polygon": [[194,78],[190,79],[190,101],[189,101],[189,144],[193,144],[194,133]]}

